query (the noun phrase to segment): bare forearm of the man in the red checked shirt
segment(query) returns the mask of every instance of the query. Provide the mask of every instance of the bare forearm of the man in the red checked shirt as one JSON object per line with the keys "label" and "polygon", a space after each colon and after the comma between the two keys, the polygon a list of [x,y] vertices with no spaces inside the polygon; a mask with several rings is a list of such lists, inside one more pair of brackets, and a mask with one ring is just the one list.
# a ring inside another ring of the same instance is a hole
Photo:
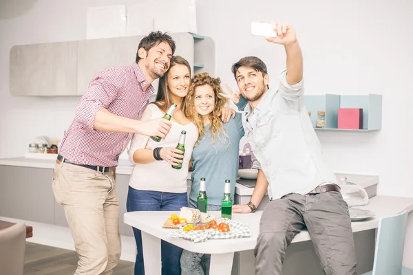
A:
{"label": "bare forearm of the man in the red checked shirt", "polygon": [[136,133],[141,123],[139,120],[115,115],[107,109],[100,109],[94,117],[94,129],[105,132]]}

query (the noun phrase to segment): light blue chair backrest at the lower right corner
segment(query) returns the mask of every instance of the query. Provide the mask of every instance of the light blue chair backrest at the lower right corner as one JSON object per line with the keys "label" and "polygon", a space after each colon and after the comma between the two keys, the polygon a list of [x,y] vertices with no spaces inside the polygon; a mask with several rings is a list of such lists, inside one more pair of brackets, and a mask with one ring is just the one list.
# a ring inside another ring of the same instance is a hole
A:
{"label": "light blue chair backrest at the lower right corner", "polygon": [[373,275],[401,274],[406,225],[407,211],[380,220]]}

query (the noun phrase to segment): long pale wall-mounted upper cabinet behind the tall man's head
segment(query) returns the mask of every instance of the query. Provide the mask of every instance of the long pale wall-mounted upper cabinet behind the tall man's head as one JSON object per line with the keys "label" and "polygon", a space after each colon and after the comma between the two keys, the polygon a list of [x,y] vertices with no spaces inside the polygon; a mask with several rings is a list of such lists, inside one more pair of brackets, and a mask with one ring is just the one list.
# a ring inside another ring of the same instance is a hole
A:
{"label": "long pale wall-mounted upper cabinet behind the tall man's head", "polygon": [[[215,75],[215,43],[211,38],[188,32],[170,35],[176,43],[175,55],[187,59],[192,74]],[[82,96],[96,72],[134,63],[143,37],[15,45],[10,50],[10,94]],[[153,85],[157,89],[158,81]]]}

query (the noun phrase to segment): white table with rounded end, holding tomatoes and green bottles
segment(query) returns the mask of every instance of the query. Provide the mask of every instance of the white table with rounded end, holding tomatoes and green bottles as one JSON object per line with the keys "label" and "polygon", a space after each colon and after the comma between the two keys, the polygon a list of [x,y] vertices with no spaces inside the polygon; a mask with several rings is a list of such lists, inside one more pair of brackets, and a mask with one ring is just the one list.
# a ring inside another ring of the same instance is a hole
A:
{"label": "white table with rounded end, holding tomatoes and green bottles", "polygon": [[[379,219],[392,216],[403,210],[413,210],[413,198],[376,196],[370,199],[368,206],[359,208],[371,210],[376,214],[366,221],[352,223],[353,232],[377,228]],[[220,214],[219,212],[211,212]],[[142,231],[142,248],[144,252],[145,274],[160,274],[160,240],[177,245],[184,250],[211,254],[210,274],[231,274],[234,252],[253,250],[260,232],[262,211],[251,214],[233,214],[233,219],[248,225],[251,237],[242,239],[209,240],[203,243],[193,243],[184,239],[169,237],[171,229],[162,228],[162,224],[173,212],[128,212],[124,222]],[[176,212],[176,214],[179,214]],[[293,243],[310,240],[307,231],[301,231],[293,239]]]}

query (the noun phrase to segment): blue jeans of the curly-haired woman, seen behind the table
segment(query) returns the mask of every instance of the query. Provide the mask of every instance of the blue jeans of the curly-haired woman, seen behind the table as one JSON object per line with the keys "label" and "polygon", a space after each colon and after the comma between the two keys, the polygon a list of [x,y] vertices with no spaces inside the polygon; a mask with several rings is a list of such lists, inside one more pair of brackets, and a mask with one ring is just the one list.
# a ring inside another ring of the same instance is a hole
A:
{"label": "blue jeans of the curly-haired woman, seen behind the table", "polygon": [[[196,201],[189,199],[189,207],[196,208]],[[209,205],[208,211],[220,211],[221,206]],[[185,275],[208,275],[211,263],[211,254],[202,254],[184,250],[181,256],[182,274]]]}

